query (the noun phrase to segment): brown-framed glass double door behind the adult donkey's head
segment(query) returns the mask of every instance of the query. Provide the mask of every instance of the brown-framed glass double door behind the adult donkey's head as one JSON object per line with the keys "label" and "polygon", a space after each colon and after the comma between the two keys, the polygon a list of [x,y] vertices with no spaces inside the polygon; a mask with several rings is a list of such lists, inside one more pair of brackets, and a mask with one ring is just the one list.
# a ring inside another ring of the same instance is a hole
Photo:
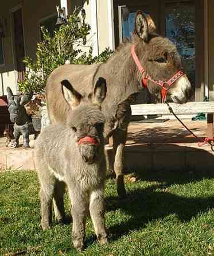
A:
{"label": "brown-framed glass double door behind the adult donkey's head", "polygon": [[203,0],[114,0],[115,46],[131,36],[137,10],[150,15],[157,33],[177,46],[184,72],[192,84],[189,100],[203,100]]}

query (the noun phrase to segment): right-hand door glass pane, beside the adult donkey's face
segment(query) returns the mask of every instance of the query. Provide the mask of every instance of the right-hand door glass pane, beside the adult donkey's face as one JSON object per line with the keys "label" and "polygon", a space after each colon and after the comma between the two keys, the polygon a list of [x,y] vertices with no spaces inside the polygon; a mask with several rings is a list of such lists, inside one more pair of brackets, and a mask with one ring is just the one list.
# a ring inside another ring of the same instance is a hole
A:
{"label": "right-hand door glass pane, beside the adult donkey's face", "polygon": [[[195,83],[195,9],[193,1],[166,3],[166,37],[178,49],[184,72],[194,91]],[[194,92],[192,99],[194,100]]]}

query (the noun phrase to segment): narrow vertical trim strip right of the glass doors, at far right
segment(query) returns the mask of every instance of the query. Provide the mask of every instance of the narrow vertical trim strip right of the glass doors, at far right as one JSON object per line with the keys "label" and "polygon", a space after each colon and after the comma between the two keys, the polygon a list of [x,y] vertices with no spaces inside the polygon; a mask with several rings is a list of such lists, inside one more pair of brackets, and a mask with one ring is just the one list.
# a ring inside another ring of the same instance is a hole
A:
{"label": "narrow vertical trim strip right of the glass doors, at far right", "polygon": [[208,0],[204,0],[204,96],[209,98]]}

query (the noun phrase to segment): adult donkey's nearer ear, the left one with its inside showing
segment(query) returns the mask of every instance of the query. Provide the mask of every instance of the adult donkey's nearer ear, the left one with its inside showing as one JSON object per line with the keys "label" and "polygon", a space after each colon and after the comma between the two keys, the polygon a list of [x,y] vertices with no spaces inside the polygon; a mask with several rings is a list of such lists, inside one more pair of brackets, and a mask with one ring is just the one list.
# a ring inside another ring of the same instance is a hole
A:
{"label": "adult donkey's nearer ear, the left one with its inside showing", "polygon": [[137,11],[134,25],[135,25],[135,33],[137,33],[138,37],[142,38],[144,42],[147,42],[148,34],[149,34],[149,26],[148,26],[146,17],[141,10]]}

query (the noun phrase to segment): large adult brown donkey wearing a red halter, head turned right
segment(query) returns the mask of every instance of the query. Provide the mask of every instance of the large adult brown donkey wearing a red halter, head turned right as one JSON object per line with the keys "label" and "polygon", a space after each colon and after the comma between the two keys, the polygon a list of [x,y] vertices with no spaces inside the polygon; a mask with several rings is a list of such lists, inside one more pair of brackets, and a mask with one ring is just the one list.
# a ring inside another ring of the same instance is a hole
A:
{"label": "large adult brown donkey wearing a red halter, head turned right", "polygon": [[135,17],[133,41],[121,44],[106,63],[63,65],[52,72],[46,84],[50,122],[65,124],[69,113],[69,104],[65,102],[61,88],[62,80],[69,80],[75,90],[90,96],[99,77],[104,77],[107,82],[107,95],[102,103],[106,116],[104,136],[112,135],[113,138],[117,190],[119,197],[124,197],[123,148],[134,94],[147,87],[152,95],[161,93],[163,100],[185,103],[191,86],[182,72],[176,46],[149,31],[142,11],[137,11]]}

